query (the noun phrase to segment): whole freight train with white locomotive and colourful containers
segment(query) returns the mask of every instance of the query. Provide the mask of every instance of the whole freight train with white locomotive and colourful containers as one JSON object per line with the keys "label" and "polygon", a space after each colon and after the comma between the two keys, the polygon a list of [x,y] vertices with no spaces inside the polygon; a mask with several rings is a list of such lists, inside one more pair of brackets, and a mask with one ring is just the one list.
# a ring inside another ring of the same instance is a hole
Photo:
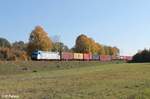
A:
{"label": "whole freight train with white locomotive and colourful containers", "polygon": [[48,52],[34,51],[31,55],[32,60],[57,60],[57,61],[112,61],[112,60],[132,60],[132,56],[112,56],[98,55],[90,53],[71,53],[71,52]]}

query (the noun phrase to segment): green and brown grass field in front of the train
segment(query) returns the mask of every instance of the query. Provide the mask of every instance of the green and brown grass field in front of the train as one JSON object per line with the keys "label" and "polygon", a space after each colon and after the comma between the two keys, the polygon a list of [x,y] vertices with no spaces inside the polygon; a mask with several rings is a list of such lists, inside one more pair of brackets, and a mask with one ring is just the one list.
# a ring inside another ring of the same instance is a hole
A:
{"label": "green and brown grass field in front of the train", "polygon": [[19,99],[150,99],[150,64],[1,62],[0,95]]}

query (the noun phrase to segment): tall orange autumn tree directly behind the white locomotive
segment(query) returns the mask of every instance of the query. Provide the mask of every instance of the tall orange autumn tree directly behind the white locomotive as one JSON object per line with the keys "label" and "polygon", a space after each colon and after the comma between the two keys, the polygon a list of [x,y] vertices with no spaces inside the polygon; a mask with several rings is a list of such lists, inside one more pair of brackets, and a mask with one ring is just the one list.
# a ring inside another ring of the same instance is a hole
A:
{"label": "tall orange autumn tree directly behind the white locomotive", "polygon": [[28,43],[28,54],[35,50],[49,51],[52,48],[52,41],[48,37],[48,33],[41,26],[36,26],[31,32]]}

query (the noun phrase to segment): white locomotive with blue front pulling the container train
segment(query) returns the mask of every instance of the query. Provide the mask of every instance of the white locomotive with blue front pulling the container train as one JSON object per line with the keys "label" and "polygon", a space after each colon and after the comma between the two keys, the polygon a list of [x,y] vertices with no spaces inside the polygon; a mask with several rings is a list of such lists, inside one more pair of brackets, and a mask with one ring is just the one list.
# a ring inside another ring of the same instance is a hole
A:
{"label": "white locomotive with blue front pulling the container train", "polygon": [[36,60],[60,60],[60,54],[59,52],[35,51],[31,58]]}

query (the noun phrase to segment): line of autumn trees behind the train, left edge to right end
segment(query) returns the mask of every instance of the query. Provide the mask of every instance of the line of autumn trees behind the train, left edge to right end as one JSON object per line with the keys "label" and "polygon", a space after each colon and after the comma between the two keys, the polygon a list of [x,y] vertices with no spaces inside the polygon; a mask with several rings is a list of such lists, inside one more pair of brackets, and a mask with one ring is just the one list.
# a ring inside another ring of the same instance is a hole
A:
{"label": "line of autumn trees behind the train, left edge to right end", "polygon": [[7,39],[0,38],[0,60],[29,60],[32,52],[36,50],[119,55],[119,48],[102,45],[84,34],[79,35],[75,46],[69,49],[61,41],[53,41],[41,26],[36,26],[30,33],[27,43],[23,41],[10,43]]}

